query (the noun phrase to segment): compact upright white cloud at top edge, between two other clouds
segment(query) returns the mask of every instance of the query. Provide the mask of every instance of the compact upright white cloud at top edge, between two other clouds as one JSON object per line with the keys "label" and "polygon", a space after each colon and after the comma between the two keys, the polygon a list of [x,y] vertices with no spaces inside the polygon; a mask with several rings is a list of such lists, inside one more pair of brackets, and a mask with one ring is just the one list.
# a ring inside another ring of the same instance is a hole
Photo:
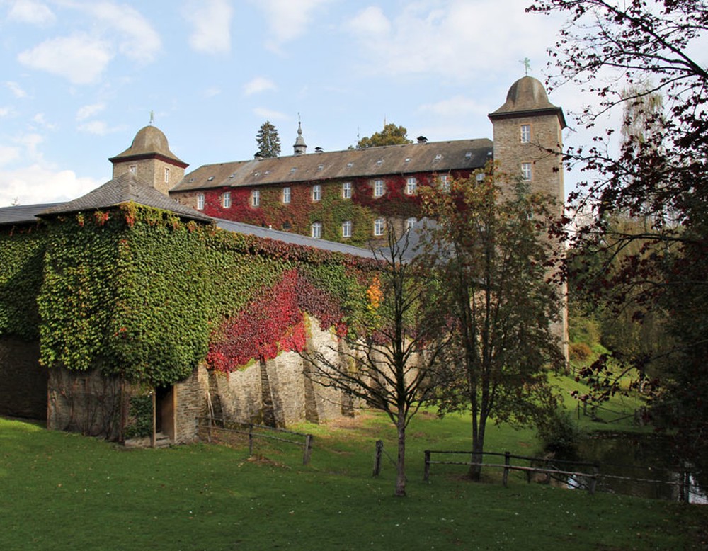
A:
{"label": "compact upright white cloud at top edge, between two other clouds", "polygon": [[231,50],[233,9],[227,0],[191,1],[183,10],[193,25],[189,45],[198,52],[221,54]]}

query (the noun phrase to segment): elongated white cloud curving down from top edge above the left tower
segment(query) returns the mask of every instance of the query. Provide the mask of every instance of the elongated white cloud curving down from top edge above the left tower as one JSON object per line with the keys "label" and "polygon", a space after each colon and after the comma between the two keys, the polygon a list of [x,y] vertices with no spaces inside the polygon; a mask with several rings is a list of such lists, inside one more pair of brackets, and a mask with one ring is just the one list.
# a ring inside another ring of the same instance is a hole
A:
{"label": "elongated white cloud curving down from top edge above the left tower", "polygon": [[118,31],[119,50],[135,61],[154,61],[162,47],[160,35],[135,8],[125,4],[98,1],[83,7],[108,28]]}

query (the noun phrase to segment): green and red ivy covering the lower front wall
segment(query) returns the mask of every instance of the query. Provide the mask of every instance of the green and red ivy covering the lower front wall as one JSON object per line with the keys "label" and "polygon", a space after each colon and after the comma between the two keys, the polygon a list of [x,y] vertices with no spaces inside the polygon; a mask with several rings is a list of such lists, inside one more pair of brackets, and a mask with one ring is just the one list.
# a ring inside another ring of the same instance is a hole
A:
{"label": "green and red ivy covering the lower front wall", "polygon": [[[12,296],[0,301],[0,320],[11,317],[6,305],[19,293],[27,304],[38,295],[42,365],[99,368],[151,386],[183,380],[215,351],[224,359],[212,367],[234,370],[250,358],[301,349],[304,312],[343,334],[365,308],[377,268],[133,203],[57,217],[45,234],[39,244],[6,237],[27,261],[14,271],[0,267],[0,281],[29,266],[41,274],[46,253],[43,281],[4,286]],[[6,331],[32,336],[21,326]]]}

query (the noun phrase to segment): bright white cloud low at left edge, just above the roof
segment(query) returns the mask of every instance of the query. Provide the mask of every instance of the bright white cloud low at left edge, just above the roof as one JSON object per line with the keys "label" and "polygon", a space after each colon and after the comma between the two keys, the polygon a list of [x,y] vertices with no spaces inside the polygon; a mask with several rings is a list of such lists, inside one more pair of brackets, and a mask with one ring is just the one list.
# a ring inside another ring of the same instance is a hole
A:
{"label": "bright white cloud low at left edge, just above the roof", "polygon": [[56,171],[40,164],[13,171],[0,170],[0,207],[9,206],[15,200],[20,205],[66,201],[89,193],[101,183],[93,178],[79,178],[71,170]]}

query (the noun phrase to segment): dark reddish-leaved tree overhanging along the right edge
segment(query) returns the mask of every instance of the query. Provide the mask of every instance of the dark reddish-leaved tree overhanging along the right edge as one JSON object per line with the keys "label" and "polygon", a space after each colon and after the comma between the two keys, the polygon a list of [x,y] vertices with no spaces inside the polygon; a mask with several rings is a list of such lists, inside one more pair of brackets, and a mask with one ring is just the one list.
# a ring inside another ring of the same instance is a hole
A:
{"label": "dark reddish-leaved tree overhanging along the right edge", "polygon": [[[566,159],[591,176],[571,196],[576,209],[594,214],[578,233],[577,246],[603,251],[607,242],[615,249],[636,245],[615,270],[593,272],[600,283],[596,289],[637,321],[645,312],[665,312],[663,332],[673,344],[632,363],[642,373],[663,359],[656,420],[677,428],[683,443],[699,442],[698,434],[703,440],[708,434],[708,412],[698,392],[687,397],[684,389],[708,386],[708,372],[698,367],[708,318],[704,308],[697,308],[708,288],[708,70],[692,57],[702,51],[708,5],[702,0],[544,0],[530,11],[569,16],[551,52],[559,69],[551,83],[574,81],[600,98],[598,108],[586,108],[580,122],[592,127],[598,115],[624,108],[623,126],[632,127],[617,152],[612,130],[591,147],[566,152]],[[626,83],[625,91],[634,92],[623,93],[618,79]],[[607,223],[617,213],[646,224],[617,232]],[[596,367],[605,370],[603,363]],[[617,386],[595,390],[602,399]],[[685,452],[700,453],[690,444]]]}

